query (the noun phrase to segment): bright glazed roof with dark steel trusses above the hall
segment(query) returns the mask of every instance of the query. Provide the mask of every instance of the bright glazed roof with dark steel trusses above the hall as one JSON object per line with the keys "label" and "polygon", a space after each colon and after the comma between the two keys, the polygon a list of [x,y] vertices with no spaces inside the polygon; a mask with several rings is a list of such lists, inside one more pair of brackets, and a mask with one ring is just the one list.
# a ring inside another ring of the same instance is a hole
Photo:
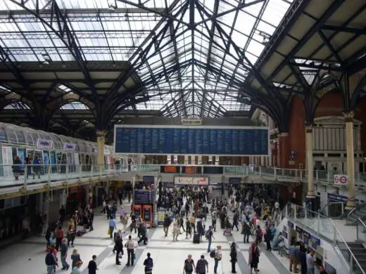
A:
{"label": "bright glazed roof with dark steel trusses above the hall", "polygon": [[[35,0],[2,0],[0,46],[13,61],[76,60],[52,12],[39,20]],[[49,10],[49,0],[39,9]],[[137,110],[168,116],[220,117],[248,111],[238,103],[241,84],[289,9],[292,0],[56,0],[84,61],[129,61],[146,103]],[[139,6],[143,3],[144,6]],[[165,10],[169,8],[170,15]],[[52,21],[53,20],[53,21]],[[61,23],[62,25],[62,23]],[[69,92],[65,86],[58,86]],[[68,103],[62,109],[85,109]]]}

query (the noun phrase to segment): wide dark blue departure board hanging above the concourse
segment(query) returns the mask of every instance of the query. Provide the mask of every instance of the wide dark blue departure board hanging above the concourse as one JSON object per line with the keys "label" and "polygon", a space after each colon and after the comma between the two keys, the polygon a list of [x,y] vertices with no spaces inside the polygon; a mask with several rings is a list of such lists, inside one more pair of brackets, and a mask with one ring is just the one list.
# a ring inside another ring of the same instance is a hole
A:
{"label": "wide dark blue departure board hanging above the concourse", "polygon": [[115,153],[268,155],[265,126],[115,126]]}

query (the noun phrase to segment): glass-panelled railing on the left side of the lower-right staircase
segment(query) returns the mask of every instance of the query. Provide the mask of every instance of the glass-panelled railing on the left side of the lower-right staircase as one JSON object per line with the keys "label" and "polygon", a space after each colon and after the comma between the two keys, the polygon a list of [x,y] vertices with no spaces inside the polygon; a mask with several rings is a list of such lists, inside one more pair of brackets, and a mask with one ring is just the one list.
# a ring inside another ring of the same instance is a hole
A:
{"label": "glass-panelled railing on the left side of the lower-right staircase", "polygon": [[344,239],[343,235],[341,235],[341,232],[336,227],[332,218],[291,203],[287,204],[282,211],[282,219],[284,217],[294,220],[297,223],[301,223],[305,228],[313,230],[318,237],[331,241],[334,247],[338,247],[339,244],[342,244],[346,248],[346,252],[348,254],[348,258],[344,257],[344,255],[343,257],[349,263],[350,273],[365,274],[365,271],[355,258],[355,255],[348,246],[347,241]]}

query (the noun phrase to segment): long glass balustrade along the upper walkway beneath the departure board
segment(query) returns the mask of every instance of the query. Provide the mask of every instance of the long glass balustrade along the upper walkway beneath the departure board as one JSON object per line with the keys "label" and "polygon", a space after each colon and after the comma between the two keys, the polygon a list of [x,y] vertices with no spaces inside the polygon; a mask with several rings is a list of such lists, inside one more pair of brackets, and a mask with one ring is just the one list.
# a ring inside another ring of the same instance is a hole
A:
{"label": "long glass balustrade along the upper walkway beneath the departure board", "polygon": [[[49,165],[20,165],[20,178],[15,181],[13,174],[13,164],[0,164],[0,185],[19,184],[20,181],[26,183],[61,181],[63,179],[71,180],[77,178],[102,176],[118,173],[154,173],[154,174],[182,174],[196,176],[210,176],[222,174],[223,176],[253,176],[263,178],[263,180],[294,181],[303,182],[307,180],[308,171],[305,169],[279,169],[276,167],[253,167],[253,166],[215,166],[215,165],[189,165],[189,164],[104,164],[99,167],[96,164],[49,164]],[[38,178],[37,174],[33,178],[34,168],[36,173],[42,174]],[[24,176],[27,173],[28,176]],[[30,175],[29,175],[30,174]],[[314,181],[316,183],[334,184],[335,171],[313,171]],[[49,176],[49,178],[45,178]],[[28,178],[26,178],[28,177]],[[25,180],[26,178],[26,180]],[[366,174],[355,174],[355,185],[366,187]]]}

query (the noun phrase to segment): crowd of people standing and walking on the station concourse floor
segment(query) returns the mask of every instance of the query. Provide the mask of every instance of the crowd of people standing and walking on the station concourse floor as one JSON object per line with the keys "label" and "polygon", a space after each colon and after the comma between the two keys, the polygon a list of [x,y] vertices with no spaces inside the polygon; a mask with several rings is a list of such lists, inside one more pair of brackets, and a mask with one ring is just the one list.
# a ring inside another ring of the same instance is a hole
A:
{"label": "crowd of people standing and walking on the station concourse floor", "polygon": [[[172,241],[179,241],[181,235],[185,239],[192,239],[196,242],[207,242],[207,252],[210,259],[213,259],[213,273],[217,274],[220,262],[227,260],[231,264],[231,273],[236,273],[236,263],[238,263],[237,243],[230,244],[229,258],[222,257],[222,247],[216,246],[212,249],[215,240],[215,233],[232,235],[241,233],[243,242],[250,243],[248,248],[248,264],[250,274],[258,274],[258,265],[262,246],[267,251],[278,251],[280,255],[286,255],[282,233],[277,233],[276,226],[280,218],[281,204],[277,194],[263,195],[263,190],[229,188],[226,197],[216,196],[210,193],[208,188],[203,187],[181,187],[176,189],[163,189],[161,191],[158,207],[165,208],[167,214],[163,221],[165,237],[172,233]],[[120,199],[118,199],[120,200]],[[113,239],[115,246],[115,263],[120,265],[120,258],[127,252],[126,266],[134,266],[136,255],[135,249],[140,245],[146,245],[149,241],[147,235],[148,228],[141,216],[135,216],[131,210],[130,214],[125,211],[126,206],[118,206],[118,200],[104,200],[101,214],[106,214],[108,222],[108,235]],[[132,208],[131,208],[132,209]],[[117,217],[119,219],[117,219]],[[53,274],[58,266],[58,254],[63,270],[70,268],[68,264],[68,248],[74,247],[75,236],[81,230],[93,230],[94,213],[88,205],[84,210],[77,209],[69,220],[65,223],[64,209],[60,210],[60,221],[55,227],[46,229],[45,237],[47,241],[46,268],[48,274]],[[122,224],[119,226],[119,223]],[[128,225],[128,226],[127,226]],[[118,229],[121,228],[121,229]],[[221,230],[220,230],[221,229]],[[234,231],[233,231],[234,230]],[[65,233],[65,234],[64,234]],[[137,242],[132,234],[137,234]],[[123,242],[127,237],[128,240]],[[183,236],[184,237],[184,236]],[[252,241],[250,239],[253,239]],[[301,273],[313,274],[314,259],[313,252],[305,254],[305,247],[301,247],[296,242],[291,242],[289,249],[290,266],[289,270],[298,273],[298,265],[301,266]],[[72,273],[80,273],[82,259],[77,249],[73,249],[70,257],[72,260]],[[208,273],[208,259],[202,254],[199,259],[194,260],[189,254],[184,259],[183,271],[186,274]],[[239,261],[239,263],[244,263]],[[89,273],[96,273],[96,255],[88,264]],[[146,274],[152,273],[153,259],[150,253],[144,260],[144,270]]]}

